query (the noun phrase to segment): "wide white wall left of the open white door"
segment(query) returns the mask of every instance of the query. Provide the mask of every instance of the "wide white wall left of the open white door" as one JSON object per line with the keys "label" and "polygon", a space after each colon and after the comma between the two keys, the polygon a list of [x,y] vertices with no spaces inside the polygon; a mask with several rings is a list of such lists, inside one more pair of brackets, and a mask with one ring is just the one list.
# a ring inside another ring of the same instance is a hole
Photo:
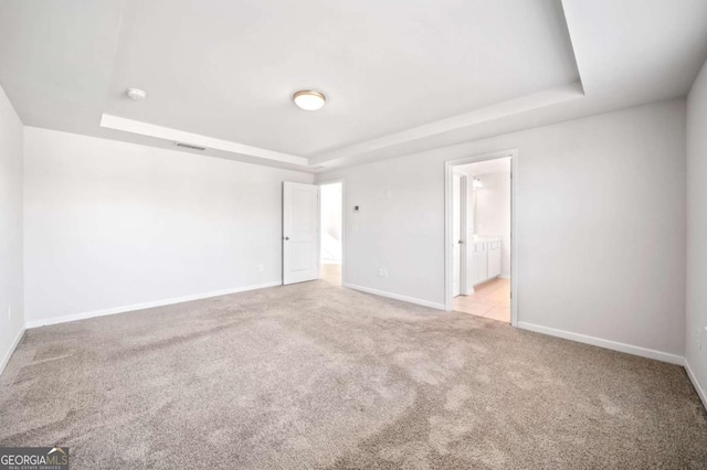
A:
{"label": "wide white wall left of the open white door", "polygon": [[282,182],[313,181],[32,127],[24,149],[30,324],[279,281]]}

